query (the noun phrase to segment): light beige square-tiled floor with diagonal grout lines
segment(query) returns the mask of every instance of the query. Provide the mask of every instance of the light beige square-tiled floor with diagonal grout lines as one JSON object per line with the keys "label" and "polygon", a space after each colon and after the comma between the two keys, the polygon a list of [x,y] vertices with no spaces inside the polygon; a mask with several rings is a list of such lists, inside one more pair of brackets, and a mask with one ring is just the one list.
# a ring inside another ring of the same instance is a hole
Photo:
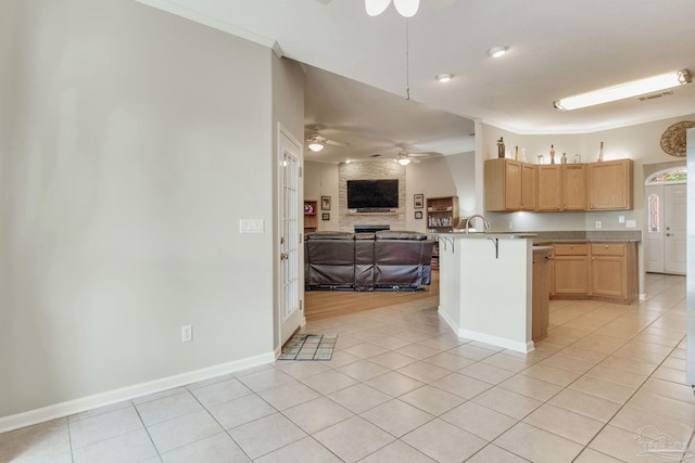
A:
{"label": "light beige square-tiled floor with diagonal grout lines", "polygon": [[659,461],[640,454],[640,429],[695,452],[685,279],[646,282],[639,305],[552,301],[548,337],[529,355],[458,339],[437,299],[311,323],[304,332],[339,335],[332,360],[278,361],[5,433],[0,461]]}

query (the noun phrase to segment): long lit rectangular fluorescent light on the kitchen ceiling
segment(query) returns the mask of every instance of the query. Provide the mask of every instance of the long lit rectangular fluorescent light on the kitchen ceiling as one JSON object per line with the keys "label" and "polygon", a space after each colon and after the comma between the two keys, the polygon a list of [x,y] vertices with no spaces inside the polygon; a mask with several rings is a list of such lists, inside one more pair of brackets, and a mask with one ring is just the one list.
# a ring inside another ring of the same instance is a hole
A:
{"label": "long lit rectangular fluorescent light on the kitchen ceiling", "polygon": [[692,81],[687,69],[661,74],[659,76],[647,77],[645,79],[633,80],[631,82],[619,83],[605,89],[564,98],[553,102],[556,110],[571,111],[580,107],[593,106],[595,104],[608,103],[627,98],[639,97],[646,93],[658,92],[673,87],[683,86]]}

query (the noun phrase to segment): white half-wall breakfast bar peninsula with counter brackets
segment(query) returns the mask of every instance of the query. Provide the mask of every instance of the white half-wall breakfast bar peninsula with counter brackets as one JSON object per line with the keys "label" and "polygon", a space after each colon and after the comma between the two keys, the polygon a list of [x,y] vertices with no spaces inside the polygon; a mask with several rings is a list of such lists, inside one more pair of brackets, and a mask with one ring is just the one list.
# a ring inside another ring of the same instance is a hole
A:
{"label": "white half-wall breakfast bar peninsula with counter brackets", "polygon": [[533,350],[533,233],[432,233],[439,312],[459,337]]}

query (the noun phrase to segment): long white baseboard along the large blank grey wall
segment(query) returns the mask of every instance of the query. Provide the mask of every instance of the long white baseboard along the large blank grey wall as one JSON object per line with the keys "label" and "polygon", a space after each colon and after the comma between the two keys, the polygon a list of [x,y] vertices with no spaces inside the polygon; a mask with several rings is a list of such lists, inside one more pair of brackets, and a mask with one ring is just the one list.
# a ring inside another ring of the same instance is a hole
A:
{"label": "long white baseboard along the large blank grey wall", "polygon": [[2,416],[0,417],[0,433],[18,429],[21,427],[30,426],[37,423],[43,423],[50,420],[55,420],[99,407],[110,406],[112,403],[122,402],[124,400],[130,400],[138,397],[148,396],[150,394],[161,393],[174,387],[186,386],[187,384],[197,383],[199,381],[208,380],[211,377],[219,376],[223,374],[235,373],[253,366],[263,365],[274,362],[278,355],[279,353],[276,351],[266,352],[254,357],[248,357],[241,360],[235,360],[228,363],[222,363],[218,365],[194,370],[174,376],[163,377],[147,383],[122,387],[119,389],[94,394],[92,396],[68,400],[66,402],[29,410],[14,415]]}

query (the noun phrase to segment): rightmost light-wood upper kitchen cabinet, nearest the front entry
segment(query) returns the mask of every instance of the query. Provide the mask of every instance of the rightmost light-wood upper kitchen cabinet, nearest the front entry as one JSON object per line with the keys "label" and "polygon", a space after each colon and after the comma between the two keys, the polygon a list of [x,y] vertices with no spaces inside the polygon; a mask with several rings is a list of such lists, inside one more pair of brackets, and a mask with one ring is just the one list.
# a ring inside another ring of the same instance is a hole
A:
{"label": "rightmost light-wood upper kitchen cabinet, nearest the front entry", "polygon": [[589,164],[589,210],[632,209],[632,159]]}

